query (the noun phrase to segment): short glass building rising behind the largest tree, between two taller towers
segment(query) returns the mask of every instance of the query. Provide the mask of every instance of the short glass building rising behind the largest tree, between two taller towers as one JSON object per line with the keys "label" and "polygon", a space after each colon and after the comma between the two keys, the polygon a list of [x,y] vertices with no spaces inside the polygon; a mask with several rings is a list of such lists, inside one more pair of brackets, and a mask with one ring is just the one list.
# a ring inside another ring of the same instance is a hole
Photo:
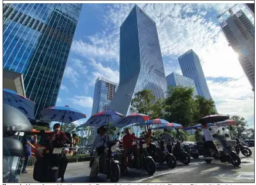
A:
{"label": "short glass building rising behind the largest tree, between two taller towers", "polygon": [[192,87],[194,89],[193,96],[197,96],[197,89],[195,87],[194,80],[177,73],[170,73],[166,77],[167,89],[168,87]]}

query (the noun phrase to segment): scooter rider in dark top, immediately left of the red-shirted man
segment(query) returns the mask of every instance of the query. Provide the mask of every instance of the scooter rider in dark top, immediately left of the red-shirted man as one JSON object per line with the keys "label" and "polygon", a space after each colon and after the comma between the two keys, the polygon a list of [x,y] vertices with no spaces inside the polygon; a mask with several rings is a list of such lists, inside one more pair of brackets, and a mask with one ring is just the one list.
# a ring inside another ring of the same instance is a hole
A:
{"label": "scooter rider in dark top, immediately left of the red-shirted man", "polygon": [[105,147],[107,147],[107,135],[106,135],[107,127],[106,126],[100,126],[98,129],[98,135],[94,138],[93,144],[91,146],[90,156],[93,156],[93,150],[94,147],[96,147],[96,151],[94,152],[94,162],[91,166],[91,172],[90,172],[90,180],[93,177],[96,177],[98,174],[98,165],[99,165],[99,159],[98,157],[101,156],[104,153]]}

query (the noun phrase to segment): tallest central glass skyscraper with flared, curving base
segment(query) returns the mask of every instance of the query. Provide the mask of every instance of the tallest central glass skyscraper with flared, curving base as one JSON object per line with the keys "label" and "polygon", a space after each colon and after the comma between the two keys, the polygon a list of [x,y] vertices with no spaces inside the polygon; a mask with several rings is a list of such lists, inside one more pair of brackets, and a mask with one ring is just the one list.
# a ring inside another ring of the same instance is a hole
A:
{"label": "tallest central glass skyscraper with flared, curving base", "polygon": [[150,89],[165,97],[166,80],[156,23],[135,5],[120,27],[120,78],[109,108],[130,113],[135,93]]}

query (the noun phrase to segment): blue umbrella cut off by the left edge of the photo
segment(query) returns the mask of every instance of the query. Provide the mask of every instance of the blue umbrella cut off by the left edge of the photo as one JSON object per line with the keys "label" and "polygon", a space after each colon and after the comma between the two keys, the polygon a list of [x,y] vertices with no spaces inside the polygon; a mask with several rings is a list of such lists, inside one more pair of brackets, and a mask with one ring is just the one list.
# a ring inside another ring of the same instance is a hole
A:
{"label": "blue umbrella cut off by the left edge of the photo", "polygon": [[15,91],[3,89],[3,103],[19,109],[27,118],[34,119],[34,105],[36,105],[36,103],[21,96]]}

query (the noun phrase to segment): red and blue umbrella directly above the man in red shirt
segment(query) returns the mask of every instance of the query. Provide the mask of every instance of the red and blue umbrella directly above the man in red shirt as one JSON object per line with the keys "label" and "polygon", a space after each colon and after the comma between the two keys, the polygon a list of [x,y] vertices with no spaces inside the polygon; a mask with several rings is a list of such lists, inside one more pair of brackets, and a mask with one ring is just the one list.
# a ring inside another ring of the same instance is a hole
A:
{"label": "red and blue umbrella directly above the man in red shirt", "polygon": [[148,121],[150,117],[146,114],[134,113],[131,115],[127,115],[123,117],[118,122],[112,124],[112,126],[116,126],[118,128],[123,128],[124,126],[128,126],[129,124],[138,123]]}

